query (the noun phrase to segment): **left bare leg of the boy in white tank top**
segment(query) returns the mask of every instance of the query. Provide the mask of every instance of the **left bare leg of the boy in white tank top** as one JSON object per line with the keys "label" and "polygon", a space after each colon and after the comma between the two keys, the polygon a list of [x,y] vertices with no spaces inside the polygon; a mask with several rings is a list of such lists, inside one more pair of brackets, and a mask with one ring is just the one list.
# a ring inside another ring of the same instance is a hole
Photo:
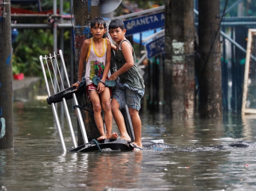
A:
{"label": "left bare leg of the boy in white tank top", "polygon": [[[106,139],[107,136],[104,132],[103,120],[101,116],[101,100],[97,91],[91,91],[91,103],[93,106],[93,114],[96,126],[101,134],[102,139]],[[104,137],[104,138],[103,138]]]}

